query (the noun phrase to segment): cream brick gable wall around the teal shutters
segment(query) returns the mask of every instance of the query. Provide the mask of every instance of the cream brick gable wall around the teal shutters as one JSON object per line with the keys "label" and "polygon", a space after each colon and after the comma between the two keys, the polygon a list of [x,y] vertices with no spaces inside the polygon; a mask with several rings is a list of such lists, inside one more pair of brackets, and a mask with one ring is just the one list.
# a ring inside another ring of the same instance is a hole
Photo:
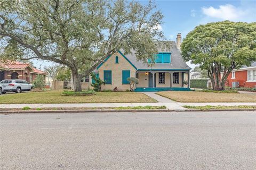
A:
{"label": "cream brick gable wall around the teal shutters", "polygon": [[[116,56],[118,56],[118,64],[116,64]],[[130,70],[130,76],[135,78],[136,70],[134,67],[119,53],[113,54],[108,60],[101,65],[99,68],[99,77],[101,80],[103,79],[103,71],[104,70],[111,70],[112,71],[112,83],[106,84],[105,86],[102,85],[102,90],[109,89],[113,90],[117,87],[119,91],[125,91],[130,89],[129,84],[122,84],[122,70]]]}

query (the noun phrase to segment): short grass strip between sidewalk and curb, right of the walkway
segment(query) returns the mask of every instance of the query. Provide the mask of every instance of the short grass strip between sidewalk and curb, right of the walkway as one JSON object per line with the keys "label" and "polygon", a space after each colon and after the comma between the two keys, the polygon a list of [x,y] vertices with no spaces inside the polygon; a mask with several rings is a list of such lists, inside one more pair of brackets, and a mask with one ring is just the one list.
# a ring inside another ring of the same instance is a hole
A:
{"label": "short grass strip between sidewalk and curb, right of the walkway", "polygon": [[210,110],[210,109],[256,109],[256,106],[244,106],[244,105],[239,105],[239,106],[183,106],[185,108],[190,108],[190,109],[201,109],[201,110]]}

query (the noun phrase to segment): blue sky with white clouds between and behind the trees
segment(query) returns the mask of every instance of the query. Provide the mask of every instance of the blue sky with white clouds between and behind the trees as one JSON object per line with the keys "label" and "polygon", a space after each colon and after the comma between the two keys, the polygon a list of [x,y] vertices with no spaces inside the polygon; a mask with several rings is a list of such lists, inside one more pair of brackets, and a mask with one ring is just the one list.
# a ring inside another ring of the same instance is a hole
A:
{"label": "blue sky with white clouds between and behind the trees", "polygon": [[[140,1],[142,4],[148,1]],[[217,21],[256,21],[256,0],[254,1],[154,1],[164,15],[159,29],[169,40],[175,40],[177,33],[185,38],[187,33],[199,24]],[[49,65],[35,61],[35,66]],[[189,62],[190,67],[195,67]]]}

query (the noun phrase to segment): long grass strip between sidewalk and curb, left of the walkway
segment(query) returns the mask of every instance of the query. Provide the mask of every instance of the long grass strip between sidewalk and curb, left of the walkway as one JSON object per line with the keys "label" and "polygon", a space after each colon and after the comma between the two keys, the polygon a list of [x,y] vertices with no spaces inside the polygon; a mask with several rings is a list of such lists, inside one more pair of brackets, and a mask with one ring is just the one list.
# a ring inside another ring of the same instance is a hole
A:
{"label": "long grass strip between sidewalk and curb, left of the walkway", "polygon": [[25,106],[23,108],[0,108],[0,111],[57,111],[57,110],[143,110],[143,109],[166,109],[166,106],[126,106],[126,107],[57,107],[57,108],[30,108]]}

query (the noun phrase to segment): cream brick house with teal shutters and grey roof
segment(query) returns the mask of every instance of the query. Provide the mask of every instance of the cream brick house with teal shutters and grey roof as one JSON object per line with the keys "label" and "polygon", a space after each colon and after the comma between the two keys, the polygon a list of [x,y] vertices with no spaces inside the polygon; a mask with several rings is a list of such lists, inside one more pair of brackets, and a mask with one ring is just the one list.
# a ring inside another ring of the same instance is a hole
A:
{"label": "cream brick house with teal shutters and grey roof", "polygon": [[[177,35],[177,43],[169,41],[171,48],[159,51],[154,64],[137,61],[134,53],[126,54],[119,50],[108,56],[93,72],[106,81],[102,90],[117,88],[119,91],[130,89],[127,78],[136,77],[139,83],[135,91],[190,90],[190,67],[180,54],[181,35]],[[82,80],[82,88],[90,88],[89,76]]]}

